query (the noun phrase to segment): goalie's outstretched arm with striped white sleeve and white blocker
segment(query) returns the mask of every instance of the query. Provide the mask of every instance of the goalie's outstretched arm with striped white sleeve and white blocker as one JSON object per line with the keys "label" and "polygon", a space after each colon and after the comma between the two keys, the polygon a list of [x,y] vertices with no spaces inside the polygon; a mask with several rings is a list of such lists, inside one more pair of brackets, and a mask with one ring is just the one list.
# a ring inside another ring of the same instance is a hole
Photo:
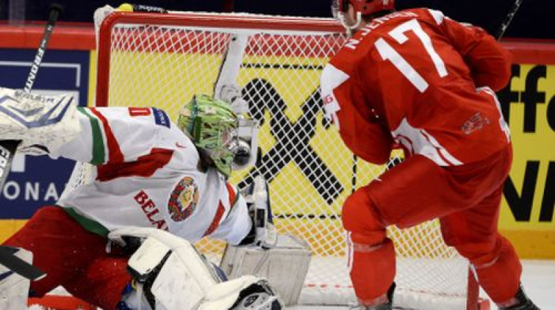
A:
{"label": "goalie's outstretched arm with striped white sleeve and white blocker", "polygon": [[[26,154],[103,165],[137,161],[155,148],[194,149],[167,114],[146,107],[77,107],[71,95],[0,88],[0,135]],[[176,144],[178,143],[178,145]]]}

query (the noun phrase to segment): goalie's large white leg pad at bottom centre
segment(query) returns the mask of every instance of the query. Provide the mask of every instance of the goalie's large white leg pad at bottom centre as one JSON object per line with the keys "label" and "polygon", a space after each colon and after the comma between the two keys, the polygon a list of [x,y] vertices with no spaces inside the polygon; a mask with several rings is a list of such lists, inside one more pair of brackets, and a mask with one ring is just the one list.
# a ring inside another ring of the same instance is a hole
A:
{"label": "goalie's large white leg pad at bottom centre", "polygon": [[280,310],[283,304],[263,277],[225,281],[189,241],[155,228],[121,228],[108,235],[124,246],[127,237],[144,240],[129,259],[136,289],[120,309]]}

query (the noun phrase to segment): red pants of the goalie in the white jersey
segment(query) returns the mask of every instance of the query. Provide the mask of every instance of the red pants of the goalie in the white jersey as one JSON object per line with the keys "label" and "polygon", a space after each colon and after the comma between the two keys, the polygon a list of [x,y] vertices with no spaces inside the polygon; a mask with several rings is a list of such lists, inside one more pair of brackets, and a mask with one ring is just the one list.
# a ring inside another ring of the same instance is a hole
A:
{"label": "red pants of the goalie in the white jersey", "polygon": [[108,239],[89,233],[62,208],[46,206],[4,244],[33,252],[33,264],[47,275],[31,282],[31,294],[42,297],[57,286],[102,309],[116,309],[131,280],[129,257],[120,248],[106,253]]}

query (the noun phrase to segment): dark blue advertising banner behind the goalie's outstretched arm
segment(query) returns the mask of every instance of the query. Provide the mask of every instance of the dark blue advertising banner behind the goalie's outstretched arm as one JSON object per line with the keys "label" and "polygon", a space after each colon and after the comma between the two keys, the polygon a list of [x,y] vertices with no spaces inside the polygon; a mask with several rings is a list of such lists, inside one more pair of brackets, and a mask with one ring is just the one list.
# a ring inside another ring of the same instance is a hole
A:
{"label": "dark blue advertising banner behind the goalie's outstretched arm", "polygon": [[[35,51],[0,49],[0,86],[23,89]],[[46,51],[33,92],[71,93],[87,105],[89,51]],[[64,158],[16,154],[0,191],[0,219],[28,219],[40,206],[55,203],[69,179],[74,162]]]}

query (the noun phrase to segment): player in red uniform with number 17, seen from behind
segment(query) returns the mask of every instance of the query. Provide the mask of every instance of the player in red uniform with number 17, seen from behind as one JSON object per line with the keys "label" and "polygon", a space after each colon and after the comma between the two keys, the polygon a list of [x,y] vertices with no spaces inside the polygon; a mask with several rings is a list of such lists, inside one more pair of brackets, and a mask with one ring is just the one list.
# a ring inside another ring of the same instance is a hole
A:
{"label": "player in red uniform with number 17, seen from behind", "polygon": [[386,226],[439,218],[445,242],[470,260],[500,309],[538,309],[520,287],[513,246],[497,232],[512,149],[494,92],[509,81],[509,53],[437,10],[395,12],[393,0],[335,0],[332,8],[350,37],[321,76],[327,118],[364,161],[387,163],[395,144],[406,155],[343,205],[359,307],[392,307]]}

